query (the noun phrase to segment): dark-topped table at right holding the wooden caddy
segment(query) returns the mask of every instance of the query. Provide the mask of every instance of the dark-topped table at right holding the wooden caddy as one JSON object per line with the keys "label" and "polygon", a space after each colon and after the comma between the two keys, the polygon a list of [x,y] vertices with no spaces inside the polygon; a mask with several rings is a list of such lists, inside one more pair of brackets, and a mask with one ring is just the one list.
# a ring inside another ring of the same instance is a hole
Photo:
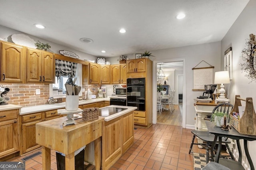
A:
{"label": "dark-topped table at right holding the wooden caddy", "polygon": [[[249,151],[248,151],[248,146],[247,146],[247,141],[255,141],[256,140],[256,136],[254,135],[242,135],[240,133],[238,133],[238,131],[236,131],[236,129],[234,129],[232,127],[232,129],[229,129],[229,131],[224,131],[222,130],[220,127],[215,126],[214,122],[206,122],[206,126],[207,129],[210,133],[215,135],[214,138],[214,142],[212,143],[212,146],[216,145],[216,141],[217,138],[219,137],[219,143],[222,143],[222,137],[228,137],[230,139],[234,139],[236,140],[236,145],[238,148],[238,152],[239,152],[239,158],[238,158],[238,162],[237,161],[233,161],[233,160],[228,160],[228,159],[219,159],[220,158],[220,151],[221,151],[221,145],[218,145],[218,150],[217,150],[217,154],[215,157],[215,162],[220,161],[220,164],[230,168],[230,169],[239,169],[242,170],[244,169],[244,167],[242,166],[241,162],[242,162],[242,150],[240,147],[240,143],[239,140],[240,139],[244,139],[244,151],[246,154],[246,158],[250,164],[250,168],[251,170],[254,170],[254,165],[252,163],[252,159],[250,157]],[[211,154],[212,154],[212,158],[213,158],[213,147],[211,148]]]}

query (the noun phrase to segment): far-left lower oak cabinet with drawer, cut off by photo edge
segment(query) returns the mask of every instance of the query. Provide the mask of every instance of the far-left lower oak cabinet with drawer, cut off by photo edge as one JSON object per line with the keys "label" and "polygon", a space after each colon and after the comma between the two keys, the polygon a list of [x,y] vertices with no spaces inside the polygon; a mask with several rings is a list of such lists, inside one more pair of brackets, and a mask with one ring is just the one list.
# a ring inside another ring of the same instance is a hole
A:
{"label": "far-left lower oak cabinet with drawer, cut off by photo edge", "polygon": [[0,111],[0,161],[19,151],[19,109]]}

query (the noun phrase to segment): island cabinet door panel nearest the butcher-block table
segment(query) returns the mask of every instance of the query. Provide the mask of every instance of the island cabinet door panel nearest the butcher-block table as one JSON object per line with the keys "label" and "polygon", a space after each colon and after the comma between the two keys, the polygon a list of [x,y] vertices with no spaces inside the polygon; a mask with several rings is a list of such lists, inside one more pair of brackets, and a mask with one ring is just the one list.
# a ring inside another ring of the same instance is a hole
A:
{"label": "island cabinet door panel nearest the butcher-block table", "polygon": [[103,121],[102,167],[109,169],[122,155],[122,119]]}

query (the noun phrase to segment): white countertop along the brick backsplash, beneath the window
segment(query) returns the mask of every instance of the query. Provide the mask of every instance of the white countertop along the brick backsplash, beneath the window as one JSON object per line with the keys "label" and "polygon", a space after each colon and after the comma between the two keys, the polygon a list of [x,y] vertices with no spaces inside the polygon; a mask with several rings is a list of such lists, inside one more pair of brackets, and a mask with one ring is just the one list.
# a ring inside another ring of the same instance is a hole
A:
{"label": "white countertop along the brick backsplash, beneath the window", "polygon": [[[110,101],[110,98],[96,98],[96,99],[90,99],[90,100],[79,100],[79,105],[90,104],[90,103],[95,103],[95,102],[102,102],[102,101]],[[10,105],[10,104],[8,104],[8,105]],[[2,106],[6,106],[6,105],[2,105]],[[0,106],[0,111],[1,111],[1,108],[2,107]],[[21,108],[20,115],[24,115],[24,114],[28,114],[28,113],[36,113],[39,111],[47,111],[47,110],[52,110],[52,109],[65,108],[65,102],[56,103],[56,104],[28,106],[28,107],[20,106],[20,108]]]}

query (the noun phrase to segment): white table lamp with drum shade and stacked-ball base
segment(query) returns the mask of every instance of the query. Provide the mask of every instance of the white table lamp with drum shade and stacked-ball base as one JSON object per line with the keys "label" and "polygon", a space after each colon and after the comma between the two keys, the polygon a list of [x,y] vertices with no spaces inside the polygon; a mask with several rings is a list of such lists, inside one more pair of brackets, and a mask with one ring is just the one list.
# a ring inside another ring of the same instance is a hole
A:
{"label": "white table lamp with drum shade and stacked-ball base", "polygon": [[228,71],[218,71],[215,72],[215,77],[214,77],[214,84],[221,84],[220,85],[220,99],[226,99],[225,98],[225,89],[224,89],[224,84],[229,84],[229,73]]}

